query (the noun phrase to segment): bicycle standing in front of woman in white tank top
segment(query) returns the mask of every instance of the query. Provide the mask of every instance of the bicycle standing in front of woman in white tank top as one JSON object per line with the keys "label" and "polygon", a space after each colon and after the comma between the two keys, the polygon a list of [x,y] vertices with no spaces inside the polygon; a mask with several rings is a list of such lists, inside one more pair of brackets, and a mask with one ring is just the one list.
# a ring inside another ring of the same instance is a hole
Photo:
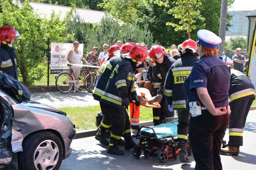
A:
{"label": "bicycle standing in front of woman in white tank top", "polygon": [[[68,64],[68,66],[71,66],[74,64]],[[95,66],[89,66],[89,67],[95,67]],[[96,77],[96,73],[92,73],[92,71],[87,66],[85,69],[82,69],[80,71],[80,76],[78,77],[78,80],[76,80],[76,76],[74,75],[73,68],[71,69],[70,73],[68,72],[61,72],[56,76],[55,85],[57,90],[60,93],[69,93],[74,86],[78,87],[79,90],[92,93],[92,90],[94,89],[94,80]],[[74,75],[74,78],[73,76]],[[80,78],[82,77],[82,78]]]}

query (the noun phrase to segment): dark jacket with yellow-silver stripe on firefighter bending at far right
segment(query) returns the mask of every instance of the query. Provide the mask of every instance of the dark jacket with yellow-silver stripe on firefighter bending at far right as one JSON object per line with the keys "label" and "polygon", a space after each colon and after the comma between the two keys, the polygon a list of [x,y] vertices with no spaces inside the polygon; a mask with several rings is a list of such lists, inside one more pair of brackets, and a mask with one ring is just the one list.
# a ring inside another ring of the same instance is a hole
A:
{"label": "dark jacket with yellow-silver stripe on firefighter bending at far right", "polygon": [[250,99],[255,97],[255,88],[252,81],[242,72],[231,69],[230,88],[228,91],[230,102],[244,98]]}

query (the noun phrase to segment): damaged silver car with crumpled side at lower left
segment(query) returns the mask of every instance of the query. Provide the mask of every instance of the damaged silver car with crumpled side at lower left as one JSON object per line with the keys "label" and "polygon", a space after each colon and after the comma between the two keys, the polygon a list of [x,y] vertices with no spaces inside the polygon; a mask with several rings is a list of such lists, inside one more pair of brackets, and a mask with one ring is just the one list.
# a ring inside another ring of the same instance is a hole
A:
{"label": "damaged silver car with crumpled side at lower left", "polygon": [[0,169],[52,170],[70,156],[75,126],[66,113],[0,89]]}

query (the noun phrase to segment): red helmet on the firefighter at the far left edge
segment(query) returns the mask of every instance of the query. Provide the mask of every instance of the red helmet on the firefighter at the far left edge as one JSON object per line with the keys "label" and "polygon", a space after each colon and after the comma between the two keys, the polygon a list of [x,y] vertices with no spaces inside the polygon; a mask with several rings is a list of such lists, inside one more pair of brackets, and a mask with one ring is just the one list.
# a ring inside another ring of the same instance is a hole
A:
{"label": "red helmet on the firefighter at the far left edge", "polygon": [[11,42],[13,38],[21,39],[20,34],[15,28],[10,26],[0,27],[0,41]]}

